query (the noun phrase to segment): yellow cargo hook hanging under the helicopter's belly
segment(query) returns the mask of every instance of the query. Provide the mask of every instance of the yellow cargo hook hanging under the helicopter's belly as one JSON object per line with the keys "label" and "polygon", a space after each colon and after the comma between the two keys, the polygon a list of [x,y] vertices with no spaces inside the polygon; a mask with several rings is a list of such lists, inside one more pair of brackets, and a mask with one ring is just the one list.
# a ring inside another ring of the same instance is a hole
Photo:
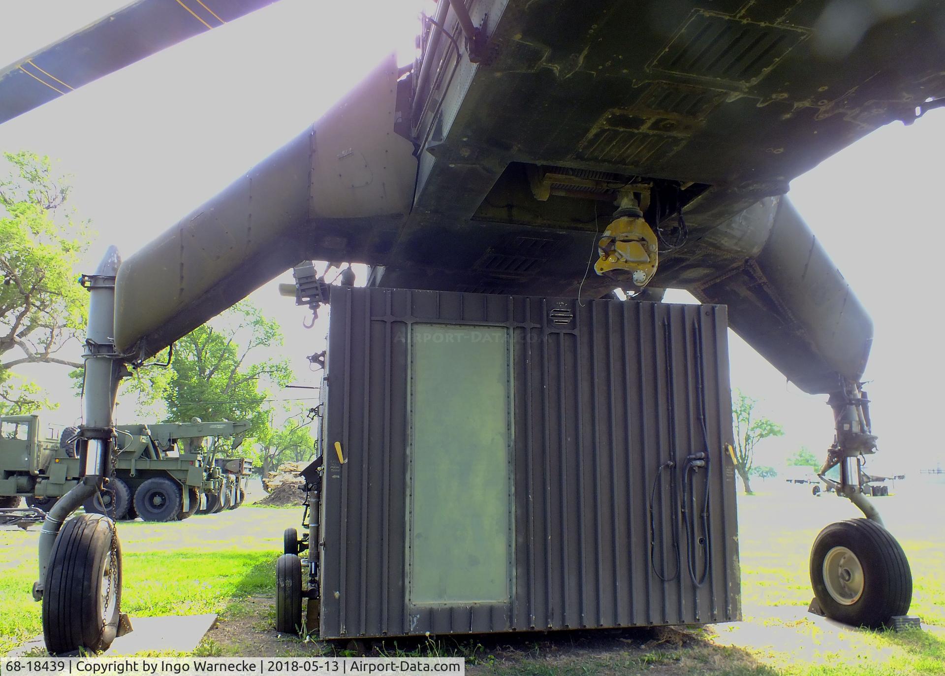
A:
{"label": "yellow cargo hook hanging under the helicopter's belly", "polygon": [[656,234],[631,192],[621,194],[613,216],[597,242],[600,257],[593,269],[627,288],[640,290],[656,274],[660,255]]}

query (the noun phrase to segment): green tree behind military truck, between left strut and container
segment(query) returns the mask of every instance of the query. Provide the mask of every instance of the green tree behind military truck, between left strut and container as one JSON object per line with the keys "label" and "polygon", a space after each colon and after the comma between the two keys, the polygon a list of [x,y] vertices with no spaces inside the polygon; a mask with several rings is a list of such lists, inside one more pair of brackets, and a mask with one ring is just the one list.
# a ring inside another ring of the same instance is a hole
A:
{"label": "green tree behind military truck, between left strut and container", "polygon": [[278,323],[248,301],[236,303],[155,357],[166,362],[172,352],[169,369],[139,370],[123,394],[139,403],[163,402],[170,422],[249,421],[247,439],[266,440],[271,434],[266,383],[283,388],[294,374],[287,359],[255,357],[282,344]]}

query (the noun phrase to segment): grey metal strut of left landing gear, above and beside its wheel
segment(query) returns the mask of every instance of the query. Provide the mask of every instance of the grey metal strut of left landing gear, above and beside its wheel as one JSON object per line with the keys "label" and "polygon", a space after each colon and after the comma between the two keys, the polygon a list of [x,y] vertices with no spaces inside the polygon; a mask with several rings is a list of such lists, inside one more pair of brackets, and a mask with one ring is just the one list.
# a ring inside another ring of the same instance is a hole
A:
{"label": "grey metal strut of left landing gear, above and beside its wheel", "polygon": [[49,555],[62,524],[69,515],[98,489],[105,474],[107,460],[112,453],[112,410],[118,390],[118,376],[114,355],[115,275],[121,266],[121,256],[115,247],[109,247],[95,269],[94,275],[83,276],[89,289],[89,321],[86,329],[84,397],[82,416],[84,425],[79,432],[79,444],[85,442],[85,477],[75,488],[63,495],[43,521],[39,540],[40,578],[33,584],[33,598],[43,598],[43,581],[49,567]]}

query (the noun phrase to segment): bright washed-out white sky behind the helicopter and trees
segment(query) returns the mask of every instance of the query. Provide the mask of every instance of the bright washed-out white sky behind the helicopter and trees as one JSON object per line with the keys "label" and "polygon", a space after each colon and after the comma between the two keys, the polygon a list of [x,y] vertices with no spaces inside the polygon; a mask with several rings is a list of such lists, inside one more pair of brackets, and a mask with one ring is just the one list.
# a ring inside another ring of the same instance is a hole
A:
{"label": "bright washed-out white sky behind the helicopter and trees", "polygon": [[[84,26],[124,0],[4,0],[0,63]],[[73,175],[71,204],[98,233],[85,265],[108,244],[128,255],[214,196],[318,119],[390,51],[413,58],[423,0],[350,3],[282,0],[99,79],[0,126],[0,149],[30,149]],[[365,20],[367,18],[367,20]],[[936,433],[945,373],[941,299],[945,110],[911,126],[876,130],[791,183],[790,199],[866,305],[875,338],[865,377],[881,453],[875,473],[945,464]],[[291,275],[278,281],[291,282]],[[278,295],[277,282],[251,296],[283,325],[284,354],[301,385],[317,384],[305,355],[320,349],[323,322],[306,330],[306,311]],[[672,302],[692,302],[673,291]],[[833,437],[825,397],[785,382],[730,334],[731,380],[761,400],[785,435],[763,442],[758,462],[778,466],[801,445],[822,455]],[[77,350],[76,350],[77,355]],[[71,424],[78,403],[66,373],[52,365],[25,372]],[[280,398],[305,390],[283,390]],[[127,410],[127,407],[126,407]],[[119,419],[122,408],[119,407]]]}

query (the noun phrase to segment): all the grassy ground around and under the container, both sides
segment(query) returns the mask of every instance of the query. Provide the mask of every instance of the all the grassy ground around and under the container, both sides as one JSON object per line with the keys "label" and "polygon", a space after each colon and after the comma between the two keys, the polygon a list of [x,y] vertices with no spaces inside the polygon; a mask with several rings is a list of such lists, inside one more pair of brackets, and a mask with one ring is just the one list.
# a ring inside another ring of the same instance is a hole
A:
{"label": "all the grassy ground around and under the container, both sides", "polygon": [[[745,621],[678,631],[571,632],[386,642],[388,653],[466,656],[471,673],[943,674],[945,675],[945,487],[902,484],[882,498],[886,525],[912,566],[911,613],[930,631],[875,633],[807,615],[807,555],[816,532],[856,517],[845,500],[806,487],[761,483],[739,498]],[[244,506],[183,523],[122,524],[123,610],[130,615],[217,613],[202,654],[344,653],[344,646],[279,638],[272,631],[274,562],[282,531],[301,510]],[[42,631],[35,578],[38,529],[0,531],[0,654]]]}

